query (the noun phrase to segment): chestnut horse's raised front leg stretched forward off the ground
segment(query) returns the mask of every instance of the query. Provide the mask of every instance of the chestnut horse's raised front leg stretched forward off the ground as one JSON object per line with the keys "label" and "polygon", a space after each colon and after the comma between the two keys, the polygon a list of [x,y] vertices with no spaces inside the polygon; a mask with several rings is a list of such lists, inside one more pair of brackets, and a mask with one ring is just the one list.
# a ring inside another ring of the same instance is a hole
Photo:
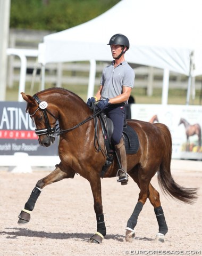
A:
{"label": "chestnut horse's raised front leg stretched forward off the ground", "polygon": [[27,201],[27,203],[24,205],[24,209],[22,209],[20,215],[18,224],[25,224],[30,221],[30,213],[35,207],[35,203],[42,191],[42,189],[53,182],[60,181],[64,178],[73,178],[74,172],[72,170],[65,170],[63,171],[62,164],[55,166],[55,170],[47,175],[45,178],[39,180],[35,186],[35,188],[32,190],[31,195]]}

